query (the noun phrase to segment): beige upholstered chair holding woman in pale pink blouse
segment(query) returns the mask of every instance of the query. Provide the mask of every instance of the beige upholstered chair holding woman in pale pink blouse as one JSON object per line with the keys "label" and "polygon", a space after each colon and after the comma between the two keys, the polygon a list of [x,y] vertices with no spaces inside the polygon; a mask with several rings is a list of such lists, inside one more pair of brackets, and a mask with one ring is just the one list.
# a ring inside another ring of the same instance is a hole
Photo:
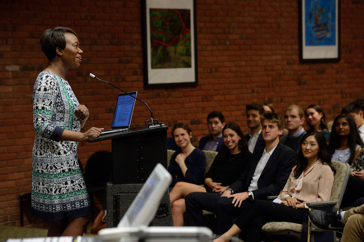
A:
{"label": "beige upholstered chair holding woman in pale pink blouse", "polygon": [[[336,174],[334,176],[334,184],[331,190],[331,198],[330,198],[331,200],[323,202],[308,202],[307,206],[310,207],[310,209],[333,211],[334,208],[339,209],[340,207],[345,187],[348,183],[348,179],[350,176],[350,166],[349,164],[340,161],[331,161],[331,164],[336,169]],[[273,196],[269,198],[273,198]],[[336,232],[324,231],[323,233],[315,233],[315,232],[321,232],[322,230],[316,228],[311,223],[309,223],[308,226],[306,225],[304,227],[307,228],[307,230],[305,230],[304,233],[308,233],[307,236],[308,242],[336,241]],[[302,225],[298,223],[268,222],[262,227],[262,231],[267,233],[268,235],[271,235],[270,237],[274,237],[274,235],[287,236],[295,239],[296,241],[297,240],[301,241],[301,238],[302,239],[306,238],[306,236],[302,236]]]}

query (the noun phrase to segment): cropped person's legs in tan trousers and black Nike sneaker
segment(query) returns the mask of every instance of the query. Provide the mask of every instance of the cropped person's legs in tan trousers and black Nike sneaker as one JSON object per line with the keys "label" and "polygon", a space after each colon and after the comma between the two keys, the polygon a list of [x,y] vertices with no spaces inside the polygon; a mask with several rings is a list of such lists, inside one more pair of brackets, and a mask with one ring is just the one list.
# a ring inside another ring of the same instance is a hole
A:
{"label": "cropped person's legs in tan trousers and black Nike sneaker", "polygon": [[[362,199],[363,200],[363,199]],[[322,230],[342,233],[341,242],[364,242],[364,205],[357,205],[347,211],[309,211],[309,219]]]}

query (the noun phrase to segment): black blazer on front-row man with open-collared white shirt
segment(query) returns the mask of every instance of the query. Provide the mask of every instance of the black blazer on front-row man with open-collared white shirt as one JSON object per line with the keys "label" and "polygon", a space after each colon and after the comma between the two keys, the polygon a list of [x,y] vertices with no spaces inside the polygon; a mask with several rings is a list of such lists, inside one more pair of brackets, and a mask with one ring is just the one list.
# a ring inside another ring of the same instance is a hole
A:
{"label": "black blazer on front-row man with open-collared white shirt", "polygon": [[[264,149],[262,147],[254,150],[252,162],[250,162],[241,177],[229,187],[233,189],[234,193],[248,190]],[[288,146],[278,143],[258,180],[258,189],[253,191],[254,199],[266,199],[267,196],[279,195],[296,163],[296,152]]]}

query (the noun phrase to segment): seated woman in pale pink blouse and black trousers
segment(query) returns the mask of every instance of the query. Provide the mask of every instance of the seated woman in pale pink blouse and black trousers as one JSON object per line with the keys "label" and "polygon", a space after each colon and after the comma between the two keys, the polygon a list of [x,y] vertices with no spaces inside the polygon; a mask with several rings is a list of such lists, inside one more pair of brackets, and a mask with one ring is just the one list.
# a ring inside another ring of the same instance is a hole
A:
{"label": "seated woman in pale pink blouse and black trousers", "polygon": [[[268,146],[267,146],[268,147]],[[215,242],[230,241],[241,233],[245,242],[261,242],[262,226],[266,222],[301,223],[306,202],[327,201],[330,199],[335,169],[331,167],[331,157],[326,139],[322,133],[313,131],[302,137],[298,163],[292,169],[280,201],[257,200],[237,218],[234,225]],[[234,206],[240,206],[240,196],[232,194]]]}

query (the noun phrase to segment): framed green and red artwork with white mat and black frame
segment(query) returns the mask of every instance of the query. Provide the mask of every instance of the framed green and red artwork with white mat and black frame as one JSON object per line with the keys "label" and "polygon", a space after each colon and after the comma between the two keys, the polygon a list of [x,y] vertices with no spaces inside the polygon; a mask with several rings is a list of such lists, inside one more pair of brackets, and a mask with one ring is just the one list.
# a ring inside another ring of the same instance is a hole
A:
{"label": "framed green and red artwork with white mat and black frame", "polygon": [[142,0],[144,87],[196,86],[195,0]]}

